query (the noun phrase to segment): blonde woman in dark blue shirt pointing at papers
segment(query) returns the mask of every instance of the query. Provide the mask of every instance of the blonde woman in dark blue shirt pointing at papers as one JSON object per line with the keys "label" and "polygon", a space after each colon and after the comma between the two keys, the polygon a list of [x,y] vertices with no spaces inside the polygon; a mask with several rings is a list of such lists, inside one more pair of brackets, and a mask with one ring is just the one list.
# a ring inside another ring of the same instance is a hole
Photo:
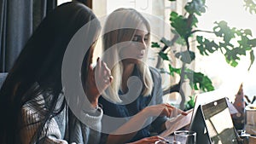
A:
{"label": "blonde woman in dark blue shirt pointing at papers", "polygon": [[113,83],[99,100],[104,112],[102,143],[137,141],[150,136],[150,129],[166,130],[166,116],[174,107],[162,103],[160,73],[147,65],[148,20],[135,9],[116,9],[108,15],[103,33],[102,59]]}

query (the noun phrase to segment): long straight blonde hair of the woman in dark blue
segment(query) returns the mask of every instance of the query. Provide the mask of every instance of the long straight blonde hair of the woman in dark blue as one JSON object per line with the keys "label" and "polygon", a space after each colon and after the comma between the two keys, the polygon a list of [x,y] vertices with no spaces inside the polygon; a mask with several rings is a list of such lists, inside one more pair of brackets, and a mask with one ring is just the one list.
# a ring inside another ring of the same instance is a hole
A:
{"label": "long straight blonde hair of the woman in dark blue", "polygon": [[[123,64],[119,57],[118,43],[129,42],[134,37],[137,27],[145,25],[148,33],[150,33],[150,26],[142,14],[135,9],[116,9],[108,16],[108,20],[104,26],[103,32],[103,60],[111,68],[113,75],[113,83],[102,94],[105,98],[115,103],[121,102],[119,98],[119,89],[122,84]],[[147,45],[149,45],[149,40]],[[149,71],[148,65],[143,62],[137,64],[138,71],[142,76],[143,96],[151,94],[154,83]]]}

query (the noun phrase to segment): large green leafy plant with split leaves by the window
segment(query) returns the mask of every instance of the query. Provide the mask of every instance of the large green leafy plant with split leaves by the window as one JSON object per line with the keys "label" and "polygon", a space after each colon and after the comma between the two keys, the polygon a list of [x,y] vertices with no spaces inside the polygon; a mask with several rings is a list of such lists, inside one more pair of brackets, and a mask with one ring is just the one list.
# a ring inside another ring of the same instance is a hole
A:
{"label": "large green leafy plant with split leaves by the window", "polygon": [[[251,14],[256,13],[256,5],[253,3],[253,0],[244,0],[244,3],[245,9]],[[152,43],[152,48],[159,49],[159,57],[156,67],[160,67],[162,61],[165,60],[169,62],[169,70],[167,73],[172,76],[176,73],[180,77],[179,82],[170,86],[169,89],[164,91],[164,94],[178,92],[182,97],[180,103],[181,108],[184,108],[185,102],[185,95],[183,89],[181,89],[181,85],[186,79],[189,80],[189,85],[192,89],[204,92],[214,90],[210,78],[201,72],[195,72],[188,68],[188,65],[195,60],[196,56],[195,52],[190,49],[189,40],[192,37],[195,37],[197,41],[196,48],[199,50],[200,55],[211,55],[212,53],[220,51],[230,66],[237,66],[241,55],[249,54],[251,63],[248,70],[253,65],[253,48],[256,47],[256,38],[253,38],[251,30],[230,27],[224,20],[214,22],[211,32],[197,29],[197,17],[207,11],[205,0],[192,0],[186,3],[184,9],[186,13],[183,15],[173,11],[170,14],[171,31],[174,33],[174,37],[172,37],[172,39],[162,37],[160,42]],[[195,35],[196,32],[211,33],[215,37],[218,37],[218,41]],[[180,45],[181,47],[186,48],[186,50],[173,50],[174,45]],[[181,61],[181,67],[172,66],[172,63],[170,62],[171,60],[168,57],[170,53],[175,55],[177,60]],[[161,72],[166,72],[163,69],[161,70]]]}

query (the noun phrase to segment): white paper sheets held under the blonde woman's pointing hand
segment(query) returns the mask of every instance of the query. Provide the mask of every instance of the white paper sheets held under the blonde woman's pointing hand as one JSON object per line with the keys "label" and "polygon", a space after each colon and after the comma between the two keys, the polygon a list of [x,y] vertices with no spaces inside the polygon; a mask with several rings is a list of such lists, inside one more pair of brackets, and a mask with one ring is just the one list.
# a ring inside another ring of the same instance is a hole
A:
{"label": "white paper sheets held under the blonde woman's pointing hand", "polygon": [[187,111],[189,114],[184,116],[182,114],[177,115],[177,117],[170,118],[168,119],[168,125],[169,127],[166,128],[164,132],[160,134],[162,137],[166,137],[168,135],[171,135],[174,131],[179,130],[183,128],[184,126],[190,124],[191,122],[191,117],[193,114],[193,109]]}

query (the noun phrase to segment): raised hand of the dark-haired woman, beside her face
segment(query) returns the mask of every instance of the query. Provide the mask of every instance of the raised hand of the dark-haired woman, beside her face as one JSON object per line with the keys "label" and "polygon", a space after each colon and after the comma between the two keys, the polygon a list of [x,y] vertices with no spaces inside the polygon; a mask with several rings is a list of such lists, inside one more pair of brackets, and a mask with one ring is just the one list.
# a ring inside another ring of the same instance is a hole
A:
{"label": "raised hand of the dark-haired woman, beside her face", "polygon": [[98,58],[96,66],[89,67],[87,80],[84,85],[85,94],[93,107],[98,105],[98,98],[112,81],[113,76],[108,66]]}

